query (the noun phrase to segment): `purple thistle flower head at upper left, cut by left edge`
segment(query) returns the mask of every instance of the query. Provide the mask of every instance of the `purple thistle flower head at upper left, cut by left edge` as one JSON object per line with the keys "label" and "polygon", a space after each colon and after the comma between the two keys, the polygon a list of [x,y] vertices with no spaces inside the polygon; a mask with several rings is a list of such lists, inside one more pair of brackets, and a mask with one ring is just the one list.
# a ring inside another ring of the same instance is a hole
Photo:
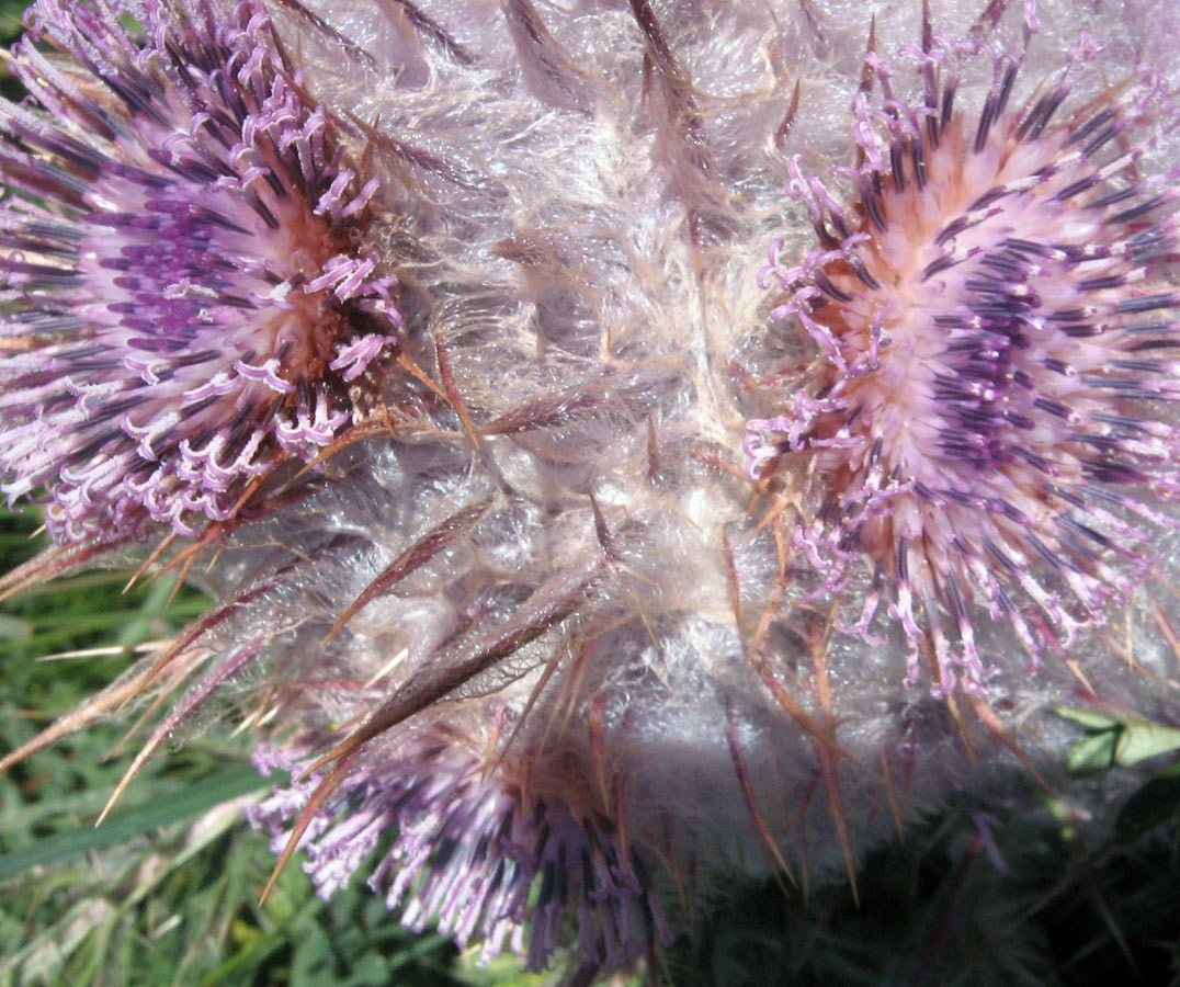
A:
{"label": "purple thistle flower head at upper left, cut by left edge", "polygon": [[59,540],[191,535],[332,442],[396,346],[393,274],[359,246],[378,179],[253,0],[30,17],[32,102],[0,106],[2,489],[47,496]]}

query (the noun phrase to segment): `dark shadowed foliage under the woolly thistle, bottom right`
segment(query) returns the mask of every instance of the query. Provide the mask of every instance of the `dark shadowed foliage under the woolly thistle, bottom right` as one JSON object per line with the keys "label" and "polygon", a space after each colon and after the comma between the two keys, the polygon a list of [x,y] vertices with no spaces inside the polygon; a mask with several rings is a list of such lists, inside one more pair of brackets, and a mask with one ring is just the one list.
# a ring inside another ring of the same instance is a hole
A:
{"label": "dark shadowed foliage under the woolly thistle, bottom right", "polygon": [[959,805],[879,848],[860,902],[773,884],[702,916],[677,987],[1107,987],[1180,983],[1180,839],[1069,838],[1051,813]]}

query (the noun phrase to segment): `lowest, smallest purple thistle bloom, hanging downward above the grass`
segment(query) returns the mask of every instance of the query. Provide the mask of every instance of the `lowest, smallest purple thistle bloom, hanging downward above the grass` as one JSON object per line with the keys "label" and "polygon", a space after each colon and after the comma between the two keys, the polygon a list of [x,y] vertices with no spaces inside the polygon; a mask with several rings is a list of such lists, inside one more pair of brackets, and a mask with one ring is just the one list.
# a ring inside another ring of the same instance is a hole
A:
{"label": "lowest, smallest purple thistle bloom, hanging downward above the grass", "polygon": [[[453,743],[413,738],[405,747],[352,773],[308,828],[304,869],[322,897],[388,843],[373,890],[415,932],[437,923],[460,946],[483,940],[484,960],[509,946],[543,969],[571,924],[581,959],[605,969],[653,939],[668,941],[643,862],[601,822],[576,818],[564,800],[525,798]],[[269,747],[255,762],[266,774],[301,770]],[[247,810],[270,829],[275,852],[321,780],[312,773]]]}

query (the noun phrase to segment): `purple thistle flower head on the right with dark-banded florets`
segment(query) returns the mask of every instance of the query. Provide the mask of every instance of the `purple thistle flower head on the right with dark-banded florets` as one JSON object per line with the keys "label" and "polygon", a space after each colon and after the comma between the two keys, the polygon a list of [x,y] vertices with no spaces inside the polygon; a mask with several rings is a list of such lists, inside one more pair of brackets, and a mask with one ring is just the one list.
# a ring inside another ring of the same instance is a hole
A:
{"label": "purple thistle flower head on the right with dark-banded florets", "polygon": [[[782,413],[748,424],[748,470],[808,463],[818,508],[794,543],[835,591],[867,568],[935,689],[985,693],[976,614],[1034,658],[1125,602],[1180,490],[1180,257],[1174,184],[1142,177],[1180,123],[1146,70],[1069,110],[1070,65],[1023,104],[1020,54],[926,38],[904,51],[922,94],[894,97],[876,54],[856,99],[863,163],[845,208],[792,162],[787,192],[820,246],[763,276],[818,344]],[[956,102],[965,64],[991,85]]]}

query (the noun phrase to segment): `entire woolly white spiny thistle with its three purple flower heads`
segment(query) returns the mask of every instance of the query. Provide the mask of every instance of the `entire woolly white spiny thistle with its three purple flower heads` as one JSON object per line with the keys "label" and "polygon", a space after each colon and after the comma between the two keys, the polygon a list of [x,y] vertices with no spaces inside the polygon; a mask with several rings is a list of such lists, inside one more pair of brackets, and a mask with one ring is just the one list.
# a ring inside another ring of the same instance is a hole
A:
{"label": "entire woolly white spiny thistle with its three purple flower heads", "polygon": [[221,602],[4,763],[216,705],[321,894],[589,982],[1175,724],[1180,13],[1107,6],[38,0],[6,586]]}

